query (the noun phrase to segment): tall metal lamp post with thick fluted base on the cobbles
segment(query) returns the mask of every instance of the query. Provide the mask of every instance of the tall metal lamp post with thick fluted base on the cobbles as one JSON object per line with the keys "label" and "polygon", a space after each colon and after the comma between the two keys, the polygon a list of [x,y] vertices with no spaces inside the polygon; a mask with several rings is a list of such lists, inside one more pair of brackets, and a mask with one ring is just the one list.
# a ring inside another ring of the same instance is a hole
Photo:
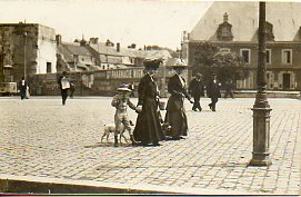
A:
{"label": "tall metal lamp post with thick fluted base on the cobbles", "polygon": [[267,99],[265,2],[259,2],[257,97],[253,105],[253,151],[250,166],[270,166],[270,105]]}

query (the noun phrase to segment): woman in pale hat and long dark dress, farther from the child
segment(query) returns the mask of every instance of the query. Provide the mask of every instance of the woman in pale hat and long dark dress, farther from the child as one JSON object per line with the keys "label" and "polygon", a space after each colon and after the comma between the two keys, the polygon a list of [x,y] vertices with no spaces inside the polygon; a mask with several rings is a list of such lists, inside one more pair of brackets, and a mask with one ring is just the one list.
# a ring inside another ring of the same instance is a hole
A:
{"label": "woman in pale hat and long dark dress, farther from the child", "polygon": [[171,96],[168,99],[164,122],[171,126],[171,129],[167,130],[165,135],[170,136],[173,140],[179,140],[188,134],[188,121],[183,105],[184,98],[193,104],[188,93],[185,80],[181,77],[185,67],[185,63],[182,61],[177,62],[175,66],[172,67],[175,75],[172,76],[168,82],[168,92],[171,93]]}

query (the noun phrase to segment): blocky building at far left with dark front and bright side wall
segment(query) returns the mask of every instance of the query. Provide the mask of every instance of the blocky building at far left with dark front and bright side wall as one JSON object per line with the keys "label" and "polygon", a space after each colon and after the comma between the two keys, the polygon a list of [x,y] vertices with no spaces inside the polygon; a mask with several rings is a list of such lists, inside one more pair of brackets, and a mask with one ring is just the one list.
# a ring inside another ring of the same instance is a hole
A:
{"label": "blocky building at far left with dark front and bright side wall", "polygon": [[54,29],[38,23],[0,24],[1,81],[57,72]]}

